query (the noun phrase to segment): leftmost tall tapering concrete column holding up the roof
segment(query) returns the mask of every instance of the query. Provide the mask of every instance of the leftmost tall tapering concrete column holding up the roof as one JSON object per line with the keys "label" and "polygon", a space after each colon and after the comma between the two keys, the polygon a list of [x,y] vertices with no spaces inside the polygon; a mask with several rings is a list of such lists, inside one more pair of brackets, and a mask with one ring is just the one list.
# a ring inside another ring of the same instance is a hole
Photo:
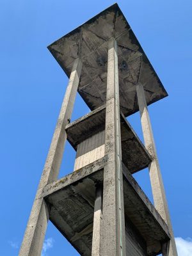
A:
{"label": "leftmost tall tapering concrete column holding up the roof", "polygon": [[81,75],[81,68],[81,60],[75,60],[45,162],[44,171],[40,179],[35,201],[26,227],[26,232],[24,234],[24,239],[20,247],[19,256],[41,255],[44,236],[47,229],[47,222],[49,220],[49,205],[45,203],[44,198],[41,196],[42,189],[45,185],[56,180],[58,177],[65,141],[67,140],[65,127],[68,124],[68,118],[72,115],[72,109],[74,107],[77,87],[79,84],[79,77]]}

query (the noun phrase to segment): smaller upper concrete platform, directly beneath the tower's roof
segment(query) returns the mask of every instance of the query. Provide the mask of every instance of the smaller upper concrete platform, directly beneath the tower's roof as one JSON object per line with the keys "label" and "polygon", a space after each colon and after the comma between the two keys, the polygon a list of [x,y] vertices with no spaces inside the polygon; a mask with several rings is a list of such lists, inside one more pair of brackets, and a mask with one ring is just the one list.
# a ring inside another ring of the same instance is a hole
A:
{"label": "smaller upper concrete platform, directly beneath the tower's roof", "polygon": [[[101,106],[91,113],[68,124],[67,140],[77,150],[77,145],[105,128],[106,107]],[[150,164],[150,155],[131,125],[121,115],[122,160],[129,172],[135,173]]]}

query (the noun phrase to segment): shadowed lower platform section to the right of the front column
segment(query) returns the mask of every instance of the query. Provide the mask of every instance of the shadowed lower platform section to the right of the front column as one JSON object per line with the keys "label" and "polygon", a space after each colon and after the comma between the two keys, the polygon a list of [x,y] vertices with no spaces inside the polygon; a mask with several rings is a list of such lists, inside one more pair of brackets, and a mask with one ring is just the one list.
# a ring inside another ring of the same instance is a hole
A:
{"label": "shadowed lower platform section to the right of the front column", "polygon": [[161,244],[170,239],[168,227],[125,165],[123,172],[125,223],[131,221],[143,237],[147,255],[157,255],[161,253]]}

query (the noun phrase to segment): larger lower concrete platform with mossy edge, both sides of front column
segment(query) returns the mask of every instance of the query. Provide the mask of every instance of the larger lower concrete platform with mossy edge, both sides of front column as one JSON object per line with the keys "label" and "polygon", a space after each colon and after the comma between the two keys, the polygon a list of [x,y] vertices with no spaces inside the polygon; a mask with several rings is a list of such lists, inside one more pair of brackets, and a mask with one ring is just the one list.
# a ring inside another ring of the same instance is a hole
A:
{"label": "larger lower concrete platform with mossy edge, both sides of front column", "polygon": [[[51,204],[50,220],[81,255],[91,255],[95,185],[102,184],[105,156],[44,188],[43,196]],[[161,252],[161,243],[169,240],[168,227],[136,180],[124,172],[125,225],[132,223],[147,245],[147,255]]]}

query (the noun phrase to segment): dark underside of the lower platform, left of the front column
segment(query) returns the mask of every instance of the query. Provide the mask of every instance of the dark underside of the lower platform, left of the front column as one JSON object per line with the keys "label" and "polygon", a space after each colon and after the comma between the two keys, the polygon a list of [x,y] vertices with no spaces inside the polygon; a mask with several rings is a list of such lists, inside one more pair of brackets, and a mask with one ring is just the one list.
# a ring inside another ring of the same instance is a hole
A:
{"label": "dark underside of the lower platform, left of the front column", "polygon": [[45,198],[51,205],[49,219],[83,256],[92,255],[95,186],[102,180],[99,170]]}

